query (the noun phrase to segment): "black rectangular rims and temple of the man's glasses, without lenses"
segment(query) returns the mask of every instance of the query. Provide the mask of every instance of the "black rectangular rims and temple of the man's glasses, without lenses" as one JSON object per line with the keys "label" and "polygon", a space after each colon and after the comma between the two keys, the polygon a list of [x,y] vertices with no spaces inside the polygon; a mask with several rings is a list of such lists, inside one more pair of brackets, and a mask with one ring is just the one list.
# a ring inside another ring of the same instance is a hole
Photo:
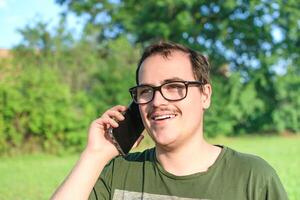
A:
{"label": "black rectangular rims and temple of the man's glasses, without lenses", "polygon": [[[186,93],[185,93],[184,97],[182,97],[182,98],[180,98],[180,99],[176,99],[176,100],[166,98],[166,97],[163,95],[163,92],[161,91],[161,88],[162,88],[164,85],[167,85],[167,84],[170,84],[170,83],[183,83],[183,84],[185,85],[185,90],[186,90]],[[162,96],[164,99],[166,99],[167,101],[181,101],[182,99],[186,98],[186,96],[187,96],[187,94],[188,94],[188,88],[189,88],[190,86],[192,86],[192,85],[198,85],[198,86],[201,86],[201,85],[204,85],[204,83],[201,82],[201,81],[180,81],[180,80],[178,80],[178,81],[168,81],[168,82],[166,82],[166,83],[161,84],[160,86],[153,86],[153,85],[150,85],[150,84],[141,84],[141,85],[137,85],[137,86],[134,86],[134,87],[129,88],[129,93],[130,93],[130,95],[131,95],[132,100],[133,100],[136,104],[139,104],[139,105],[147,104],[147,103],[151,102],[151,101],[154,99],[154,97],[155,97],[156,91],[159,91],[160,94],[161,94],[161,96]],[[152,90],[153,90],[152,98],[151,98],[149,101],[145,102],[145,103],[139,103],[139,102],[135,101],[135,98],[134,98],[134,90],[137,89],[137,88],[139,88],[139,87],[141,87],[141,86],[147,86],[147,87],[152,88]]]}

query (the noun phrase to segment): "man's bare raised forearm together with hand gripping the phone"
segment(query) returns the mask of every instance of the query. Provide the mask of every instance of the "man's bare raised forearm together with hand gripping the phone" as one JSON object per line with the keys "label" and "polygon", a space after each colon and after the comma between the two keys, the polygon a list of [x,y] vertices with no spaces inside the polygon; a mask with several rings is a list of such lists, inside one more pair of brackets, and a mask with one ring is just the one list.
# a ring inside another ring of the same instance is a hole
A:
{"label": "man's bare raised forearm together with hand gripping the phone", "polygon": [[125,110],[125,106],[114,106],[91,123],[85,151],[69,176],[53,194],[52,200],[88,199],[104,166],[118,155],[107,129],[118,127],[115,119],[124,120],[122,112]]}

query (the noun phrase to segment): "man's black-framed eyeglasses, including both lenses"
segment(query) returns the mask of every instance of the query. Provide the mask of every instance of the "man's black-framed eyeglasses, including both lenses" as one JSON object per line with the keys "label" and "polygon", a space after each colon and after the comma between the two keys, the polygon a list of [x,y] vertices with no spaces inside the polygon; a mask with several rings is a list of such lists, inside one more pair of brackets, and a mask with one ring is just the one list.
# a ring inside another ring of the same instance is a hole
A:
{"label": "man's black-framed eyeglasses, including both lenses", "polygon": [[188,87],[203,85],[200,81],[171,81],[160,86],[148,84],[138,85],[129,89],[131,97],[136,104],[147,104],[153,100],[155,92],[160,94],[168,101],[180,101],[187,96]]}

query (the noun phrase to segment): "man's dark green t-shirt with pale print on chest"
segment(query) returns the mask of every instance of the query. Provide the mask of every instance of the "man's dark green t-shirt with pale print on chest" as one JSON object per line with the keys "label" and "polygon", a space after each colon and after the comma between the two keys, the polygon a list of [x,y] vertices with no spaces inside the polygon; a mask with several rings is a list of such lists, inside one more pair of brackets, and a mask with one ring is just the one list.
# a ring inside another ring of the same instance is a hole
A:
{"label": "man's dark green t-shirt with pale print on chest", "polygon": [[206,172],[187,176],[165,171],[156,159],[154,148],[129,154],[125,159],[117,157],[104,168],[90,199],[285,200],[288,197],[275,170],[266,161],[222,147]]}

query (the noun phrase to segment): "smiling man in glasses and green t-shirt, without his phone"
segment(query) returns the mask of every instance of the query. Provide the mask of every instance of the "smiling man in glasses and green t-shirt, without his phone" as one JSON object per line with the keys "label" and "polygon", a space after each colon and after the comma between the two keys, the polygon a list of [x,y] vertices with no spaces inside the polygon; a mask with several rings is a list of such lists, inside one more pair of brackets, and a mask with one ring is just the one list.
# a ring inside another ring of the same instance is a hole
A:
{"label": "smiling man in glasses and green t-shirt, without his phone", "polygon": [[154,44],[142,55],[136,80],[132,97],[155,148],[118,156],[107,129],[118,127],[126,107],[115,106],[91,124],[86,149],[53,199],[287,199],[264,160],[203,138],[212,93],[204,56],[179,44]]}

